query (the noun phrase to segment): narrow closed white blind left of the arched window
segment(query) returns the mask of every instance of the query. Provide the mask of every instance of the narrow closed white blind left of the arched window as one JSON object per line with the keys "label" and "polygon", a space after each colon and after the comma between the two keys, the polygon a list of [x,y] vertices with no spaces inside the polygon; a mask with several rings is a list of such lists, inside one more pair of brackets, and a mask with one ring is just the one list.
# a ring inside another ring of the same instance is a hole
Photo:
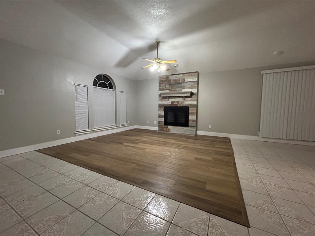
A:
{"label": "narrow closed white blind left of the arched window", "polygon": [[88,87],[75,84],[74,88],[76,131],[89,130]]}

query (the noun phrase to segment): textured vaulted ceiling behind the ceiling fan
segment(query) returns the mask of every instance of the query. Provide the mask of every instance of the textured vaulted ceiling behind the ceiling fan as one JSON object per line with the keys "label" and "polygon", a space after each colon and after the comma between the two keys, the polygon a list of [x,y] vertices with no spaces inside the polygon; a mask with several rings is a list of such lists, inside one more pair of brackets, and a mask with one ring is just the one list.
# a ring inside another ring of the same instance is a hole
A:
{"label": "textured vaulted ceiling behind the ceiling fan", "polygon": [[314,1],[1,1],[1,38],[148,79],[157,39],[180,65],[168,74],[315,60],[314,15]]}

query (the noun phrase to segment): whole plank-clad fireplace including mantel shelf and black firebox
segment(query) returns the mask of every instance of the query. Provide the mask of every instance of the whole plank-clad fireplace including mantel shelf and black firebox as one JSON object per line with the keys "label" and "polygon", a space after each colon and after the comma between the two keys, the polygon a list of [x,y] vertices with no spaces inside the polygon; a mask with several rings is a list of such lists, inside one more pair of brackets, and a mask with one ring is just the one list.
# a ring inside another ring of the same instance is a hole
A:
{"label": "whole plank-clad fireplace including mantel shelf and black firebox", "polygon": [[198,80],[198,72],[159,76],[159,131],[196,134]]}

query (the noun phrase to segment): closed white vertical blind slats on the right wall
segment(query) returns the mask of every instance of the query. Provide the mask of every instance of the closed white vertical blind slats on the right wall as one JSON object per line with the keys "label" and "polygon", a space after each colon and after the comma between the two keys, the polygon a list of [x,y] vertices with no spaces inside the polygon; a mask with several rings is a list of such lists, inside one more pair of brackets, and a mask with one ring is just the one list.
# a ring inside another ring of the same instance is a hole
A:
{"label": "closed white vertical blind slats on the right wall", "polygon": [[260,135],[315,141],[315,69],[263,75]]}

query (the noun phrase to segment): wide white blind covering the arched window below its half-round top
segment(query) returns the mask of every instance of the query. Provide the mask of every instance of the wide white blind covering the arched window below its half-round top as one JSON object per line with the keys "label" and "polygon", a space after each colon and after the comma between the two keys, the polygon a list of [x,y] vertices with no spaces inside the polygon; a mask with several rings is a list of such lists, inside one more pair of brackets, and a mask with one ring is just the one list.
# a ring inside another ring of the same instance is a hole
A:
{"label": "wide white blind covering the arched window below its half-round top", "polygon": [[93,87],[94,128],[116,125],[115,90]]}

